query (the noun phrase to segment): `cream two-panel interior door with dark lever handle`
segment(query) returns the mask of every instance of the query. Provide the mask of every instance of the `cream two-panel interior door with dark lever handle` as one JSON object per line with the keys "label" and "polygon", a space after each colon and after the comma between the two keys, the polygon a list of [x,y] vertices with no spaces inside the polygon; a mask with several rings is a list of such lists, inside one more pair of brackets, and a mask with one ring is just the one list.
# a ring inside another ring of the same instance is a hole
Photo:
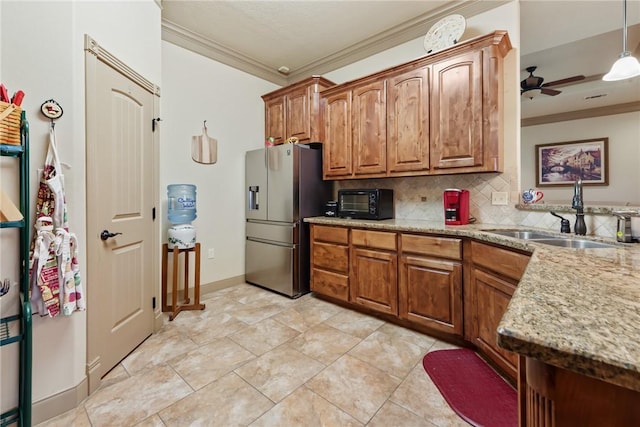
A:
{"label": "cream two-panel interior door with dark lever handle", "polygon": [[86,282],[91,392],[153,332],[159,249],[153,218],[154,94],[90,56]]}

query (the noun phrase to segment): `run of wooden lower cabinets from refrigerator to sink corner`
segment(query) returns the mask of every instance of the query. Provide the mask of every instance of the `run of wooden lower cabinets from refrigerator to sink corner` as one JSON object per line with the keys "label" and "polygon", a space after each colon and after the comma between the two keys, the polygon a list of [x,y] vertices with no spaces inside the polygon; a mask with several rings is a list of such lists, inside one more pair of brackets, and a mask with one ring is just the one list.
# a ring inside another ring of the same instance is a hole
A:
{"label": "run of wooden lower cabinets from refrigerator to sink corner", "polygon": [[312,291],[464,338],[512,382],[518,356],[498,347],[496,330],[528,262],[473,240],[311,225]]}

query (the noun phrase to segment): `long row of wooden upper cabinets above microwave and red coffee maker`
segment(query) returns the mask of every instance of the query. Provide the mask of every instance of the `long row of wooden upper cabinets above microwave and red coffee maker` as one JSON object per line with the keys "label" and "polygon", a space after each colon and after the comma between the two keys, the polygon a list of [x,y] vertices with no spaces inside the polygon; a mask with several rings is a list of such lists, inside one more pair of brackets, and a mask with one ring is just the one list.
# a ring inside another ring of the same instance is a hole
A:
{"label": "long row of wooden upper cabinets above microwave and red coffee maker", "polygon": [[506,31],[320,93],[324,178],[501,172]]}

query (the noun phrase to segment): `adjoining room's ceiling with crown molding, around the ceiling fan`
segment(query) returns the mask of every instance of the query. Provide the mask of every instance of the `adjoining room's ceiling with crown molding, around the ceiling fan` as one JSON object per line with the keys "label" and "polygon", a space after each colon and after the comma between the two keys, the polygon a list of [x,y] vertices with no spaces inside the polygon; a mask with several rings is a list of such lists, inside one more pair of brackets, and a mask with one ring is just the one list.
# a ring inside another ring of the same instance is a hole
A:
{"label": "adjoining room's ceiling with crown molding, around the ceiling fan", "polygon": [[[620,0],[521,2],[521,80],[529,75],[525,71],[529,66],[538,67],[534,75],[544,77],[545,83],[585,76],[569,86],[554,86],[562,91],[559,95],[524,98],[523,125],[571,118],[558,113],[603,115],[603,109],[611,112],[613,105],[619,106],[618,112],[640,109],[640,77],[602,80],[622,51],[622,10]],[[639,23],[640,1],[629,0],[627,49],[636,58],[640,58]]]}

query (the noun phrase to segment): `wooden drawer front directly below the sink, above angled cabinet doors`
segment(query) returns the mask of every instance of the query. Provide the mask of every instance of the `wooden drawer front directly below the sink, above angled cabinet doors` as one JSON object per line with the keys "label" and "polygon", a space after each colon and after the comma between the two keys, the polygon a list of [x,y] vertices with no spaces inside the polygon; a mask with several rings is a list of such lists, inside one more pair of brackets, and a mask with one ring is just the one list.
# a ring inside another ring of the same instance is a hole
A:
{"label": "wooden drawer front directly below the sink, above angled cabinet doors", "polygon": [[529,255],[476,241],[471,242],[471,257],[475,265],[485,267],[514,280],[520,280],[527,264],[529,264]]}

